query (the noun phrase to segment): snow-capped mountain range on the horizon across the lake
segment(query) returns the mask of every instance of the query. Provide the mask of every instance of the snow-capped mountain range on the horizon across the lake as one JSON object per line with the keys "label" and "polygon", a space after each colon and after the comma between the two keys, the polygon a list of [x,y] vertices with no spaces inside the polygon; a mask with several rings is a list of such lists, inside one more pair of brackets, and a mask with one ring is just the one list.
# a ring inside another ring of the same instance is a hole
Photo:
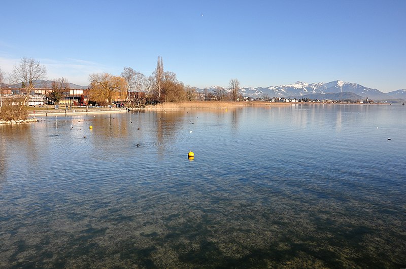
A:
{"label": "snow-capped mountain range on the horizon across the lake", "polygon": [[371,89],[364,87],[356,83],[349,83],[343,81],[332,81],[328,83],[312,83],[296,82],[290,85],[270,86],[267,88],[243,88],[241,93],[249,97],[262,97],[267,95],[268,97],[291,97],[297,98],[303,95],[312,93],[341,93],[352,92],[363,98],[384,100],[390,99],[389,94],[383,93],[377,89]]}

